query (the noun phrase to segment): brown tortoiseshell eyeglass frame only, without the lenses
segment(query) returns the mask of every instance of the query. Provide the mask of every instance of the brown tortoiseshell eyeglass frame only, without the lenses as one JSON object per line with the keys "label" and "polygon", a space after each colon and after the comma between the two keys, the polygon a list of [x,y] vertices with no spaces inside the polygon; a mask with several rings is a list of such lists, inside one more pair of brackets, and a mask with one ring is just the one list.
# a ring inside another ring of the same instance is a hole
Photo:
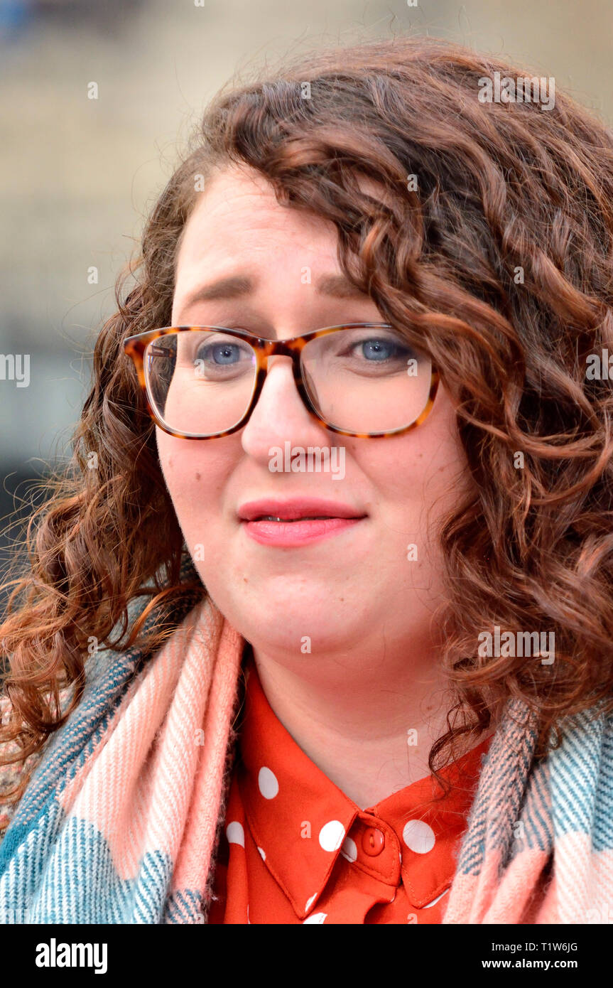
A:
{"label": "brown tortoiseshell eyeglass frame only, without the lenses", "polygon": [[[434,404],[434,398],[436,397],[436,392],[438,390],[438,383],[440,380],[440,373],[434,367],[434,364],[430,360],[430,386],[428,391],[427,400],[425,402],[425,407],[421,411],[421,414],[408,426],[401,426],[400,429],[386,430],[385,432],[376,433],[355,433],[348,432],[346,429],[340,429],[338,426],[334,426],[327,422],[320,413],[315,408],[309,392],[304,383],[300,355],[304,350],[307,343],[311,340],[316,340],[322,336],[328,336],[330,333],[337,332],[340,329],[394,329],[389,322],[347,322],[341,323],[338,326],[325,326],[322,329],[313,329],[309,333],[303,333],[300,336],[292,336],[286,340],[266,340],[260,336],[256,336],[253,333],[248,332],[244,329],[229,329],[227,326],[163,326],[159,329],[148,329],[142,333],[135,333],[132,336],[126,336],[123,340],[123,351],[131,358],[136,368],[136,373],[138,375],[138,382],[142,389],[145,404],[149,415],[155,422],[155,424],[163,430],[163,432],[168,433],[169,436],[176,436],[178,439],[193,439],[193,440],[205,440],[205,439],[221,439],[223,436],[231,436],[233,433],[238,432],[242,429],[249,421],[251,414],[258,404],[260,395],[264,388],[264,383],[268,374],[268,357],[290,357],[292,364],[292,371],[294,382],[296,384],[296,389],[298,394],[302,399],[302,403],[306,408],[309,415],[314,418],[320,425],[330,432],[337,433],[340,436],[350,436],[355,439],[388,439],[393,436],[401,436],[404,433],[410,432],[412,429],[417,429],[421,426],[422,422],[429,415],[432,405]],[[212,433],[208,436],[192,436],[178,430],[171,429],[165,422],[162,421],[152,402],[149,400],[149,394],[147,391],[147,381],[145,377],[145,365],[144,357],[145,350],[148,345],[153,341],[157,340],[161,336],[170,336],[171,333],[189,333],[195,332],[202,329],[210,329],[216,332],[224,333],[228,336],[235,336],[241,340],[246,340],[247,343],[251,344],[255,354],[256,354],[256,375],[254,390],[249,402],[249,406],[236,425],[232,426],[231,429],[224,429],[223,432]]]}

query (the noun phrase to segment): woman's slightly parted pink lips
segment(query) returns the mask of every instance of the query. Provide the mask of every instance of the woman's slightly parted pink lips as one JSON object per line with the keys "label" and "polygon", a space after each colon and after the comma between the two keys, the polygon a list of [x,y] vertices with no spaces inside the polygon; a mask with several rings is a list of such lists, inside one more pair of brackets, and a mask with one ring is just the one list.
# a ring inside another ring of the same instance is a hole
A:
{"label": "woman's slightly parted pink lips", "polygon": [[[238,511],[245,532],[263,545],[290,548],[320,541],[345,532],[366,516],[349,505],[319,498],[294,498],[291,501],[262,499],[241,505]],[[262,515],[287,521],[258,521]],[[313,518],[313,516],[326,516]],[[304,521],[292,521],[304,519]]]}

